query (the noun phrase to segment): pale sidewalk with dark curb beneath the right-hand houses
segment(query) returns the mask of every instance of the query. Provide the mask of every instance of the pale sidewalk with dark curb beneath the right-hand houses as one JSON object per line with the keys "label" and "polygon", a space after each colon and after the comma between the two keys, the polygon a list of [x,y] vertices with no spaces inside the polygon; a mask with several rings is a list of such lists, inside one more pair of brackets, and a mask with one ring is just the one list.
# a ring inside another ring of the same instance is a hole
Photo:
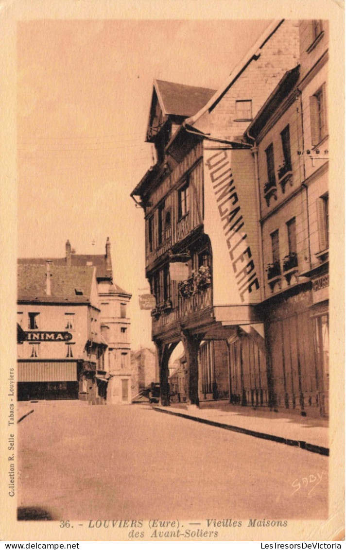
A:
{"label": "pale sidewalk with dark curb beneath the right-hand houses", "polygon": [[270,412],[231,405],[228,401],[200,403],[200,408],[189,408],[185,403],[169,407],[157,405],[158,412],[173,414],[226,430],[260,437],[286,445],[293,445],[313,453],[329,455],[328,420],[321,417],[300,416],[296,411]]}

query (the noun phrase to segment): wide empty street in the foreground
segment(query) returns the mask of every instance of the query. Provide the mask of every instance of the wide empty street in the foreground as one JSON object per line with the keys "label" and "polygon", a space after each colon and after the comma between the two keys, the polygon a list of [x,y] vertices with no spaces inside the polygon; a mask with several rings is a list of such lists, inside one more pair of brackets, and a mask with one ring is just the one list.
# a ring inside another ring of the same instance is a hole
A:
{"label": "wide empty street in the foreground", "polygon": [[150,405],[32,404],[18,507],[54,520],[321,519],[328,458]]}

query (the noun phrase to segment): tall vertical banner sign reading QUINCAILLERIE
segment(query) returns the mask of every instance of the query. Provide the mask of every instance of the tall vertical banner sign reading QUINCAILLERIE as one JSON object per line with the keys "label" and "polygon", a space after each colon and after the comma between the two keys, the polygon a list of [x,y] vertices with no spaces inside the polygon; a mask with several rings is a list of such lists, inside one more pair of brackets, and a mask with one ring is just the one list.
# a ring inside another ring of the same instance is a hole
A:
{"label": "tall vertical banner sign reading QUINCAILLERIE", "polygon": [[205,233],[213,254],[213,304],[261,300],[254,161],[249,150],[204,151]]}

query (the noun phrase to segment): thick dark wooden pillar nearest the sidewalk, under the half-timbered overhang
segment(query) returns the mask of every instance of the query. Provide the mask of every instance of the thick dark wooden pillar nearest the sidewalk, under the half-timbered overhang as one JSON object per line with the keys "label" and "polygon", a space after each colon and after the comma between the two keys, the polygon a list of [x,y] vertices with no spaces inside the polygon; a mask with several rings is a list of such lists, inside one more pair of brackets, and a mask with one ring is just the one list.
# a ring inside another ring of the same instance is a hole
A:
{"label": "thick dark wooden pillar nearest the sidewalk, under the half-timbered overhang", "polygon": [[199,406],[198,394],[198,350],[202,341],[201,335],[191,335],[188,331],[181,332],[186,363],[188,365],[187,395],[188,406]]}

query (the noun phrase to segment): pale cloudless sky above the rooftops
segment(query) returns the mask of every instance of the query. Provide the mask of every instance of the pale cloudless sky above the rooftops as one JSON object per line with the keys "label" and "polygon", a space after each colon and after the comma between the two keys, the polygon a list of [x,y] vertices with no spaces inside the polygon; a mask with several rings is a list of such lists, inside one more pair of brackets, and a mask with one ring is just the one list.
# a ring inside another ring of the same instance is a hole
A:
{"label": "pale cloudless sky above the rooftops", "polygon": [[17,26],[18,256],[104,254],[132,294],[132,349],[152,347],[144,212],[153,79],[217,90],[270,21],[29,20]]}

